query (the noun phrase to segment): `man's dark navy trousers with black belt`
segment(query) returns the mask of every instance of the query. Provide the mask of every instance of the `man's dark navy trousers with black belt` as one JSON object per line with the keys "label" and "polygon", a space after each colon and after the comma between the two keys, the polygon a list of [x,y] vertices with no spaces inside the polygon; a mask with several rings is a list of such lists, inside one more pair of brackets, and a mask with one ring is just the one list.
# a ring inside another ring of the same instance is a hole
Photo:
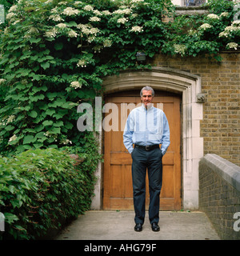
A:
{"label": "man's dark navy trousers with black belt", "polygon": [[144,223],[146,205],[146,169],[148,170],[150,223],[159,221],[159,197],[162,189],[162,151],[160,148],[144,150],[134,148],[132,152],[132,178],[134,187],[134,210],[136,224]]}

